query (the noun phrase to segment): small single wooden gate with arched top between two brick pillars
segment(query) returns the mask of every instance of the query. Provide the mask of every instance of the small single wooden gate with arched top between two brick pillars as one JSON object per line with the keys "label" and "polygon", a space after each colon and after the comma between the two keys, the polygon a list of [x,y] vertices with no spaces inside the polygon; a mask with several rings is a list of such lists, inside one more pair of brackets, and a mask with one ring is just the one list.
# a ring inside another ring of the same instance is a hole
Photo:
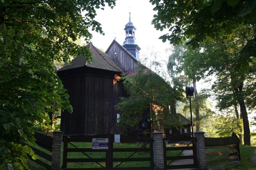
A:
{"label": "small single wooden gate with arched top between two brick pillars", "polygon": [[164,168],[197,168],[196,138],[176,134],[163,138]]}

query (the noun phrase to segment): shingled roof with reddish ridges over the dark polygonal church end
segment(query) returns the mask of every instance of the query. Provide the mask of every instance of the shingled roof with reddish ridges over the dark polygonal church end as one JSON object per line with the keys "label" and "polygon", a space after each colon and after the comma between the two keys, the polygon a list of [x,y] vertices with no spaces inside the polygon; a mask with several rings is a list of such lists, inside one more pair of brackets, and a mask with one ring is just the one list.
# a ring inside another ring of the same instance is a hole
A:
{"label": "shingled roof with reddish ridges over the dark polygonal church end", "polygon": [[89,43],[87,47],[89,47],[92,53],[92,56],[91,56],[93,58],[92,63],[87,63],[85,56],[81,55],[79,57],[74,58],[69,65],[65,65],[64,67],[60,68],[58,71],[86,66],[86,67],[92,67],[97,69],[104,69],[109,71],[117,71],[117,72],[125,73],[125,71],[123,71],[123,69],[113,59],[111,59],[106,53],[103,53],[101,50],[95,47],[92,43]]}

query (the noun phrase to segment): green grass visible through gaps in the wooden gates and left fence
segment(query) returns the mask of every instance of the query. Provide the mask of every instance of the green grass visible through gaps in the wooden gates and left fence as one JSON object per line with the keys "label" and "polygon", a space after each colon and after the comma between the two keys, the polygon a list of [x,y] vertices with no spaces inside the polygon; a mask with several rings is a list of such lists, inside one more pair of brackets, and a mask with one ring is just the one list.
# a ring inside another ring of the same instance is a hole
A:
{"label": "green grass visible through gaps in the wooden gates and left fence", "polygon": [[[77,148],[91,148],[91,142],[72,142]],[[114,148],[141,148],[141,144],[139,145],[137,143],[114,143]],[[34,145],[33,145],[34,146]],[[34,146],[36,148],[39,148],[37,146]],[[149,148],[149,144],[146,145],[147,148]],[[167,147],[173,147],[173,146],[167,146]],[[68,148],[75,148],[71,144],[69,144]],[[42,148],[39,148],[40,150],[46,151],[50,154],[47,150],[44,150]],[[177,156],[179,154],[179,150],[175,151],[167,151],[167,156]],[[128,158],[131,154],[134,152],[114,152],[113,158]],[[86,152],[87,155],[89,155],[91,158],[105,158],[106,154],[105,152]],[[182,154],[181,154],[182,155]],[[62,155],[61,155],[61,165],[62,165],[62,156],[63,156],[63,143],[62,143]],[[149,158],[150,153],[149,152],[136,152],[131,156],[130,158]],[[82,152],[68,152],[68,158],[88,158],[85,154]],[[39,158],[40,160],[43,160],[44,162],[50,163],[49,161]],[[121,162],[113,162],[113,166],[117,166]],[[99,164],[105,166],[105,162],[99,162]],[[101,168],[101,166],[97,164],[96,162],[71,162],[67,164],[67,168]],[[36,170],[45,170],[45,168],[39,166],[38,164],[29,161],[30,169],[36,169]],[[149,161],[140,161],[140,162],[123,162],[118,167],[145,167],[150,166]]]}

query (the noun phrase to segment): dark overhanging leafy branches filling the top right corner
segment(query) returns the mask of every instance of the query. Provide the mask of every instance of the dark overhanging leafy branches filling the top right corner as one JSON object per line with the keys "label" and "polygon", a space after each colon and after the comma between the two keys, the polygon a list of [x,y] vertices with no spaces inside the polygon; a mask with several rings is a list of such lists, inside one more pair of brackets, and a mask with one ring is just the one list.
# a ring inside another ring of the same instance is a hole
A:
{"label": "dark overhanging leafy branches filling the top right corner", "polygon": [[[248,66],[250,57],[256,57],[256,2],[255,0],[150,0],[155,5],[152,24],[157,30],[168,29],[160,39],[172,44],[187,42],[193,48],[200,42],[212,42],[223,36],[232,36],[241,24],[252,37],[239,51],[238,66]],[[234,63],[235,64],[235,63]]]}

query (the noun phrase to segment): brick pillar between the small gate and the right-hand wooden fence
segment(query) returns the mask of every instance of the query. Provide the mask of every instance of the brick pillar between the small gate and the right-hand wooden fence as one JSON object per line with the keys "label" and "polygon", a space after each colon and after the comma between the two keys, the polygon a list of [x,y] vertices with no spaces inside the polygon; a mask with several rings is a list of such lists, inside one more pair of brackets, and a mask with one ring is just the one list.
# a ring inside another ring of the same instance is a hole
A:
{"label": "brick pillar between the small gate and the right-hand wooden fence", "polygon": [[198,169],[206,170],[206,145],[204,142],[204,132],[195,132],[196,138],[196,152],[198,158]]}

